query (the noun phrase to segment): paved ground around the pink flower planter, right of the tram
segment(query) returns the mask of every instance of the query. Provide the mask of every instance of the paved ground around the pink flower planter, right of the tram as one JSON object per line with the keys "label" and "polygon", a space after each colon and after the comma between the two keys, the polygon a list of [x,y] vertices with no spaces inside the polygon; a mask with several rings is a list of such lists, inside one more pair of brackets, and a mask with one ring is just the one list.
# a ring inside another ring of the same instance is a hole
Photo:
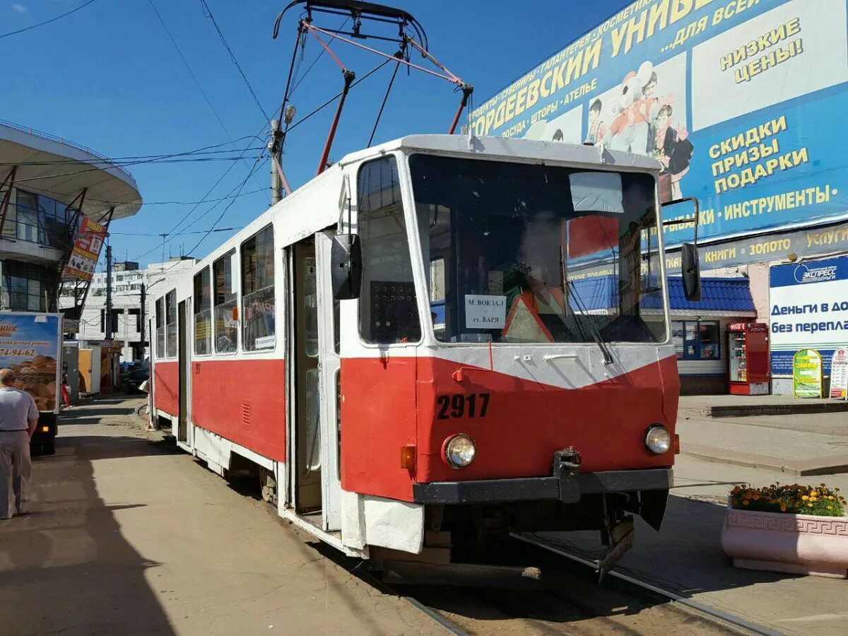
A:
{"label": "paved ground around the pink flower planter, right of the tram", "polygon": [[[675,487],[661,531],[656,533],[637,519],[635,547],[624,555],[618,571],[778,633],[845,633],[848,581],[741,570],[722,552],[728,492],[736,483],[772,483],[773,472],[679,455],[674,475]],[[779,481],[794,483],[796,479]],[[848,490],[846,474],[809,481]],[[543,536],[587,558],[602,553],[597,533]]]}

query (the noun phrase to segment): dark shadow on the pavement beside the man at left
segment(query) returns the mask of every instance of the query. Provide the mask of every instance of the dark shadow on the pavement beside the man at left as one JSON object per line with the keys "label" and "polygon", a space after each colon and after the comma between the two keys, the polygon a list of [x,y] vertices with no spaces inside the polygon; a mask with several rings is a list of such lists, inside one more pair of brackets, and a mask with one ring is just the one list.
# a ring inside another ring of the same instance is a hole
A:
{"label": "dark shadow on the pavement beside the man at left", "polygon": [[[87,413],[86,413],[87,415]],[[148,577],[160,564],[126,542],[93,480],[93,460],[152,455],[131,437],[59,438],[34,462],[34,512],[0,522],[0,632],[174,633]]]}

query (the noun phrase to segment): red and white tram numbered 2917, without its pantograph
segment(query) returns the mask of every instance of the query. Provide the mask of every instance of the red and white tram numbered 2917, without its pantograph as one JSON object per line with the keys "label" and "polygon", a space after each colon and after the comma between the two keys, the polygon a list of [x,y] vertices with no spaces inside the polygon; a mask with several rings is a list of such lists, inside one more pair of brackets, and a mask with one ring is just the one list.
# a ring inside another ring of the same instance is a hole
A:
{"label": "red and white tram numbered 2917, without its pantograph", "polygon": [[153,416],[348,555],[659,527],[659,168],[458,135],[349,154],[151,299]]}

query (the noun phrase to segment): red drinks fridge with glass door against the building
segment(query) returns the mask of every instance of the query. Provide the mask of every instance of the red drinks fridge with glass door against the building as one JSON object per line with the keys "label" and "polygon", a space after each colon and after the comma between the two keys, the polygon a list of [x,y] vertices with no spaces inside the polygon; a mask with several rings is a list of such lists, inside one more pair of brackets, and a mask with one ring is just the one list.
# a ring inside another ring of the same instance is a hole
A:
{"label": "red drinks fridge with glass door against the building", "polygon": [[728,325],[728,389],[733,395],[768,394],[768,325]]}

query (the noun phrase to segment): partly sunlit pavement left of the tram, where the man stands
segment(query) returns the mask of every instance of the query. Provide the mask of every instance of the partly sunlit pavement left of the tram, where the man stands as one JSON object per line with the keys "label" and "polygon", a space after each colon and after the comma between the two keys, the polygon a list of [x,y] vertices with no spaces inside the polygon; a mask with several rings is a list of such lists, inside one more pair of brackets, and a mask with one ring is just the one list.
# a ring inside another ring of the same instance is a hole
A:
{"label": "partly sunlit pavement left of the tram, where the man stands", "polygon": [[0,522],[0,633],[446,633],[149,440],[140,403],[75,407],[36,458],[34,512]]}

